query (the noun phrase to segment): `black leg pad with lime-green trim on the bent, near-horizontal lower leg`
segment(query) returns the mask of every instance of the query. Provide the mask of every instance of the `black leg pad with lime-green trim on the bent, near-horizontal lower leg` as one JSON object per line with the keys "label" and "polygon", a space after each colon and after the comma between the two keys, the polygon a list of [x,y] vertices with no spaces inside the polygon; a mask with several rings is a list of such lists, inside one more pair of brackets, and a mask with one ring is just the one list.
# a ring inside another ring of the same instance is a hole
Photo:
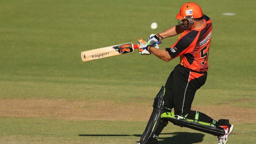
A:
{"label": "black leg pad with lime-green trim on the bent, near-horizontal lower leg", "polygon": [[185,117],[174,115],[174,113],[171,112],[161,114],[161,118],[166,119],[174,125],[178,125],[180,127],[191,128],[193,130],[206,132],[215,136],[225,135],[225,130],[222,127],[216,126],[214,125],[214,123],[205,123],[198,121],[198,115],[195,116],[194,120],[187,119]]}

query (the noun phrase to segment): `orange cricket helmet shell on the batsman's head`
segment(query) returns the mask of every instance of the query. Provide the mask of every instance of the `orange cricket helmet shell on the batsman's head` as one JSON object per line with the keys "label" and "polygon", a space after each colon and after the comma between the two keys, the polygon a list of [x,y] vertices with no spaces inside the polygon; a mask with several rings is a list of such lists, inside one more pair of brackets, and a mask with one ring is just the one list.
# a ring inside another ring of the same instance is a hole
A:
{"label": "orange cricket helmet shell on the batsman's head", "polygon": [[194,2],[187,2],[180,7],[180,12],[176,15],[176,19],[186,19],[190,17],[197,19],[203,16],[203,11],[199,5]]}

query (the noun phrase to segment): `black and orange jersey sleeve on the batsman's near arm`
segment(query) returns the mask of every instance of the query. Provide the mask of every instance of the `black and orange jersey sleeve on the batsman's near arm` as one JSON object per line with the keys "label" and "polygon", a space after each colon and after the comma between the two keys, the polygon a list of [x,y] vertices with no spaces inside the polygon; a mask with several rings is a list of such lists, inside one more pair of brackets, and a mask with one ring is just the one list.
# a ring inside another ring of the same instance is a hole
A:
{"label": "black and orange jersey sleeve on the batsman's near arm", "polygon": [[193,51],[193,41],[197,37],[199,31],[190,31],[183,37],[181,37],[171,47],[166,48],[166,51],[170,54],[171,58],[174,59],[182,54],[186,54]]}

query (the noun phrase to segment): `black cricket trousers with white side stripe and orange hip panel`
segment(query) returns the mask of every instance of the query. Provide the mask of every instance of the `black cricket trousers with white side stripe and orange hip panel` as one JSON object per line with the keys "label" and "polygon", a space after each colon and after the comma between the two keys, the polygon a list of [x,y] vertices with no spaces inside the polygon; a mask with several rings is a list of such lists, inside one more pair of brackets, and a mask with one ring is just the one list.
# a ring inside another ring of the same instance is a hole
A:
{"label": "black cricket trousers with white side stripe and orange hip panel", "polygon": [[204,85],[207,72],[196,72],[178,64],[165,84],[164,106],[174,108],[175,115],[185,116],[191,110],[196,91]]}

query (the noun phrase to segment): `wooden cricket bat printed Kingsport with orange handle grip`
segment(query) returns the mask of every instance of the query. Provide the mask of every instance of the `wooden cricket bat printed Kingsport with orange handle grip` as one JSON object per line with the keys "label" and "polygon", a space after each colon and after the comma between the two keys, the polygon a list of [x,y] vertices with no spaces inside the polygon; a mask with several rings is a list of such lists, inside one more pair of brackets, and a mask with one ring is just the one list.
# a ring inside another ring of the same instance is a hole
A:
{"label": "wooden cricket bat printed Kingsport with orange handle grip", "polygon": [[[161,41],[156,42],[156,44],[160,44]],[[132,42],[124,43],[121,45],[113,45],[109,47],[102,47],[94,50],[87,50],[81,52],[82,61],[91,61],[95,59],[102,59],[106,57],[112,57],[116,55],[126,54],[134,52],[135,49],[139,48],[140,45],[133,45]]]}

